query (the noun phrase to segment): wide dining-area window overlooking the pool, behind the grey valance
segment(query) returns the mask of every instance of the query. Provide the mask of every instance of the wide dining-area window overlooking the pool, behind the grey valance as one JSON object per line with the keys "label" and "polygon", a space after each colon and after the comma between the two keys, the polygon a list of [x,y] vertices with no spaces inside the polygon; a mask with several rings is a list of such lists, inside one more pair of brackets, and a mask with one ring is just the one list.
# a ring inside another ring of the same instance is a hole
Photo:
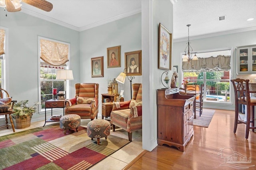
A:
{"label": "wide dining-area window overlooking the pool, behind the grey valance", "polygon": [[[210,51],[196,54],[198,58],[231,56],[231,50]],[[193,61],[192,61],[193,62]],[[184,63],[184,62],[182,62]],[[193,63],[192,63],[193,64]],[[230,63],[229,63],[230,64]],[[190,66],[193,68],[193,66]],[[230,69],[202,68],[185,70],[182,66],[182,80],[188,84],[204,83],[204,101],[230,103]]]}

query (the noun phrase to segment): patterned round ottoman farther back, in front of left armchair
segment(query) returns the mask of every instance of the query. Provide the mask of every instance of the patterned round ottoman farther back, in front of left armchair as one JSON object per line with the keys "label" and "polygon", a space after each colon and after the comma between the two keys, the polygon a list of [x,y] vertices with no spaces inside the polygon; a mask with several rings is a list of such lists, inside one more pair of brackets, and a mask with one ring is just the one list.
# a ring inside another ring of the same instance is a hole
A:
{"label": "patterned round ottoman farther back, in front of left armchair", "polygon": [[64,115],[60,118],[60,128],[64,129],[64,134],[66,135],[67,129],[76,129],[78,132],[78,127],[81,125],[81,117],[79,115],[70,114]]}

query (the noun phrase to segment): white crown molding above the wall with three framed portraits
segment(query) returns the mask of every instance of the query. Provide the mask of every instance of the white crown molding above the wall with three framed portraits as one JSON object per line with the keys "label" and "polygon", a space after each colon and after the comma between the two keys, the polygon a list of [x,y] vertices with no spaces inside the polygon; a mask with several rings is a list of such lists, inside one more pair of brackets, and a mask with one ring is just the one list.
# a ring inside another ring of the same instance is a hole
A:
{"label": "white crown molding above the wall with three framed portraits", "polygon": [[100,26],[100,25],[103,25],[105,23],[109,23],[109,22],[112,22],[112,21],[116,21],[116,20],[119,20],[119,19],[122,19],[122,18],[125,18],[125,17],[128,17],[128,16],[132,16],[134,14],[138,14],[141,12],[141,8],[137,8],[135,10],[132,10],[130,12],[126,12],[126,13],[123,13],[123,14],[120,14],[118,16],[114,16],[112,18],[108,18],[106,20],[102,20],[102,21],[99,21],[99,22],[95,22],[95,23],[92,23],[92,24],[89,24],[89,25],[86,25],[84,27],[80,27],[79,28],[79,31],[84,31],[86,29],[90,29],[90,28],[93,28],[93,27],[97,27],[97,26]]}

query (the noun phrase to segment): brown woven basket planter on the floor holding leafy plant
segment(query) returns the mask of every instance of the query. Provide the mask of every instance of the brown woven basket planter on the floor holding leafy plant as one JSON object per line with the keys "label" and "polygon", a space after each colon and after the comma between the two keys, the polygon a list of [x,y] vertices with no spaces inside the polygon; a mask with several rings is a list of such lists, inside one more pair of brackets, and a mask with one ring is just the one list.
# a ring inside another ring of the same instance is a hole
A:
{"label": "brown woven basket planter on the floor holding leafy plant", "polygon": [[14,124],[15,129],[23,129],[26,127],[30,127],[31,125],[31,118],[32,118],[32,113],[30,115],[13,115],[12,114],[12,121]]}

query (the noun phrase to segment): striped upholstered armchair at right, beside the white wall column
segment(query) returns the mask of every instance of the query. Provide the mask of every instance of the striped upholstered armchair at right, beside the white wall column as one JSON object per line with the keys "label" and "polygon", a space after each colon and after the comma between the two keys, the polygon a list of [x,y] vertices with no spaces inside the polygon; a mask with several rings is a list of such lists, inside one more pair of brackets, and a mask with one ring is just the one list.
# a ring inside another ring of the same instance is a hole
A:
{"label": "striped upholstered armchair at right, beside the white wall column", "polygon": [[114,102],[110,114],[110,123],[128,132],[128,139],[132,141],[132,132],[142,129],[142,84],[132,84],[132,100]]}

